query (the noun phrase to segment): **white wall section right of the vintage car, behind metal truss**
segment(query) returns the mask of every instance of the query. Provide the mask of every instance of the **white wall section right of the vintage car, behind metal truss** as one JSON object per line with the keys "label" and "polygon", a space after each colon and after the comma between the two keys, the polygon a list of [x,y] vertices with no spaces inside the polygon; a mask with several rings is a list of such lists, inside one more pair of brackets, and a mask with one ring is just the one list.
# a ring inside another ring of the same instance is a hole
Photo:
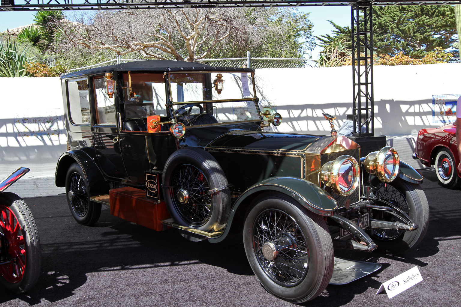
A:
{"label": "white wall section right of the vintage car, behind metal truss", "polygon": [[[461,94],[460,63],[374,66],[375,135],[417,134],[432,121],[432,95]],[[352,114],[352,67],[256,70],[258,97],[284,117],[278,131],[328,134],[322,113]]]}

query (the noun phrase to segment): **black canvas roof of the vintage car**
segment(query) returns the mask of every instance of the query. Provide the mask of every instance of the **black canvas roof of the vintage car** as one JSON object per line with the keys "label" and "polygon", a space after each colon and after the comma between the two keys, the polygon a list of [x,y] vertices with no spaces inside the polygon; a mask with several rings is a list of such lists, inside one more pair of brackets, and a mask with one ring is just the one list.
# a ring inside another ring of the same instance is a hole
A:
{"label": "black canvas roof of the vintage car", "polygon": [[254,69],[239,68],[239,67],[215,67],[206,64],[184,62],[184,61],[172,61],[172,60],[146,60],[146,61],[133,61],[122,64],[102,66],[91,68],[88,70],[79,70],[71,72],[61,76],[61,79],[86,74],[102,73],[106,71],[242,71],[250,72]]}

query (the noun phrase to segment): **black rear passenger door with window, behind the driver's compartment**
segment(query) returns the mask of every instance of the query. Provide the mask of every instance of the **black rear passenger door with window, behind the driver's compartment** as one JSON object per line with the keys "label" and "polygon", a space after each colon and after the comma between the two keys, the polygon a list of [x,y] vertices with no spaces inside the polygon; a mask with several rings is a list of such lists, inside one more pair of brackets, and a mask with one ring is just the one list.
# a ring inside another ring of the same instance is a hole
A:
{"label": "black rear passenger door with window, behind the driver's compartment", "polygon": [[104,75],[91,78],[94,124],[93,146],[96,151],[97,163],[103,173],[114,179],[129,180],[122,152],[117,123],[116,95],[112,98],[104,91]]}

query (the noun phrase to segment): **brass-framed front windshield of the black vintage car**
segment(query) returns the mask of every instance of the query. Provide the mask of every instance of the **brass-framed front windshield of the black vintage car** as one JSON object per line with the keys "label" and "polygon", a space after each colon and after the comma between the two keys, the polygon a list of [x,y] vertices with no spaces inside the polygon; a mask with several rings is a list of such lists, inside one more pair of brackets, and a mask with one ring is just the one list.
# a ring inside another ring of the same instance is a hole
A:
{"label": "brass-framed front windshield of the black vintage car", "polygon": [[246,72],[171,73],[169,77],[178,121],[198,125],[260,120],[252,100],[253,80]]}

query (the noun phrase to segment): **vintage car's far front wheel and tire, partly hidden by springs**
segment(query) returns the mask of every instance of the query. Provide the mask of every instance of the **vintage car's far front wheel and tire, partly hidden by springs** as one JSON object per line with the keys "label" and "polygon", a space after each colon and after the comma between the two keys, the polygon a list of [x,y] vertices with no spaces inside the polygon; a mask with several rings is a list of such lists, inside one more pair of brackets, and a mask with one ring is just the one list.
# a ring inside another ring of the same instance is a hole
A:
{"label": "vintage car's far front wheel and tire, partly hidden by springs", "polygon": [[[426,194],[419,185],[397,178],[390,184],[384,184],[375,196],[392,203],[404,211],[417,225],[418,229],[412,232],[393,229],[373,229],[372,238],[378,245],[378,250],[391,254],[401,254],[414,248],[424,238],[429,225],[429,204]],[[374,210],[373,219],[395,222],[396,217],[385,211]]]}

